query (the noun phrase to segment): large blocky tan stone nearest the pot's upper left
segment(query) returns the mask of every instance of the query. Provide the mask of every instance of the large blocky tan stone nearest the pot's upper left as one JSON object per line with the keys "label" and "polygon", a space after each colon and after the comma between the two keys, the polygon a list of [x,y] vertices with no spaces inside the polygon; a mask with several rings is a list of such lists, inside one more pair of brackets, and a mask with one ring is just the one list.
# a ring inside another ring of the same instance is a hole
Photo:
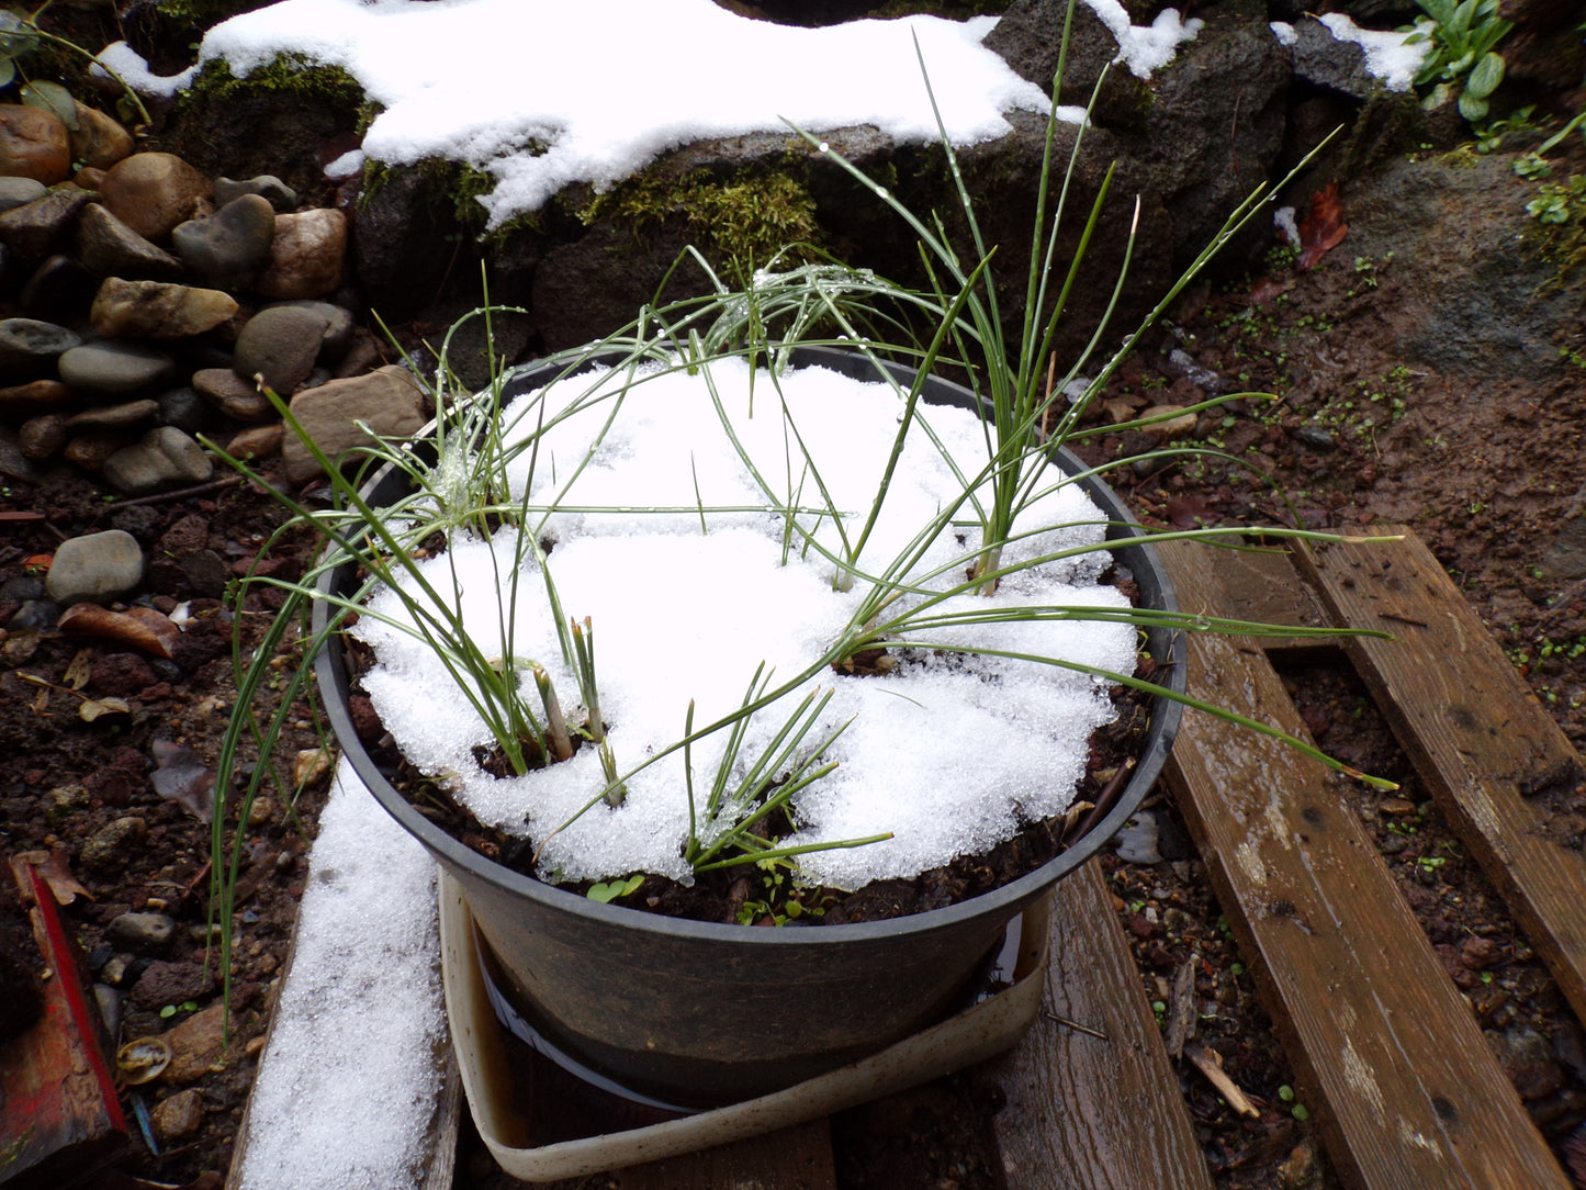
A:
{"label": "large blocky tan stone nearest the pot's upper left", "polygon": [[[428,420],[423,389],[406,368],[395,365],[305,389],[292,398],[292,414],[303,433],[338,460],[349,451],[368,446],[370,432],[403,438],[416,435]],[[285,435],[281,457],[292,482],[320,474],[319,463],[297,435]]]}

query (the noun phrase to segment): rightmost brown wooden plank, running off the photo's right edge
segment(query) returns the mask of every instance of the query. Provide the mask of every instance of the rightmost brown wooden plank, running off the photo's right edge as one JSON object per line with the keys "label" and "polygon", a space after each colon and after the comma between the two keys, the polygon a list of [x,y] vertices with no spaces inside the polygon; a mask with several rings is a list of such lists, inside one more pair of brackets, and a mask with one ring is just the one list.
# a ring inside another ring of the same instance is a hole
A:
{"label": "rightmost brown wooden plank, running off the photo's right edge", "polygon": [[1329,544],[1302,563],[1339,622],[1397,641],[1348,646],[1439,808],[1586,1019],[1586,855],[1550,838],[1526,792],[1576,789],[1580,754],[1515,673],[1431,551]]}

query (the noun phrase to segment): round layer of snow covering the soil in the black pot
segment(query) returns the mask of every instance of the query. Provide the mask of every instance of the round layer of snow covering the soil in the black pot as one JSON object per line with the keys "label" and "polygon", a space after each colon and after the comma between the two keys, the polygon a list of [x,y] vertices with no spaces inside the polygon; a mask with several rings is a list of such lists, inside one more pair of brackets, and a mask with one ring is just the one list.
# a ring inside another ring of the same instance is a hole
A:
{"label": "round layer of snow covering the soil in the black pot", "polygon": [[[1053,466],[1026,471],[1001,578],[969,578],[993,501],[975,414],[734,357],[582,373],[501,424],[523,533],[452,533],[416,570],[430,593],[401,579],[355,633],[408,758],[533,839],[544,877],[687,882],[793,852],[807,879],[855,889],[985,852],[1074,798],[1113,714],[1091,670],[1132,673],[1137,630],[1099,582],[1105,517]],[[492,466],[454,435],[436,474],[462,503]],[[474,697],[414,630],[435,600],[536,709],[541,668],[574,738],[598,733],[558,625],[588,617],[607,763],[584,739],[495,776]],[[788,784],[793,830],[766,838],[758,800]]]}

